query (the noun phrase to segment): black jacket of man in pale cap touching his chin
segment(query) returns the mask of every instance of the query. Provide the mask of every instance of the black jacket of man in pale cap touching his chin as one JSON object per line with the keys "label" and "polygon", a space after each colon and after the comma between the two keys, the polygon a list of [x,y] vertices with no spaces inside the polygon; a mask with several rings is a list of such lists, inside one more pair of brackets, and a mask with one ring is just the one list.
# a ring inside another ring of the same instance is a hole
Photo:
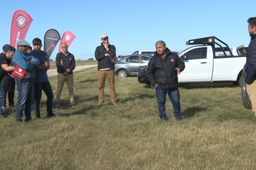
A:
{"label": "black jacket of man in pale cap touching his chin", "polygon": [[105,56],[105,53],[108,53],[110,57],[113,59],[116,55],[116,47],[114,47],[114,45],[108,45],[107,51],[103,43],[101,43],[101,45],[96,48],[95,59],[98,61],[98,70],[105,68],[114,69],[114,63],[108,56]]}

